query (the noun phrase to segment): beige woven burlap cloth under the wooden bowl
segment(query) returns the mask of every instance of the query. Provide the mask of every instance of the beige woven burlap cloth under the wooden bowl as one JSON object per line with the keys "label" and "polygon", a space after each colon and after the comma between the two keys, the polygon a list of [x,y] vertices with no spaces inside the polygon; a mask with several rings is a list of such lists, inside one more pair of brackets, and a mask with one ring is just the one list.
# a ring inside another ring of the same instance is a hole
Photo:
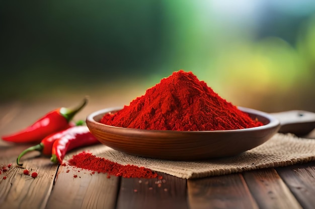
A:
{"label": "beige woven burlap cloth under the wooden bowl", "polygon": [[155,171],[190,179],[312,161],[315,160],[315,139],[277,133],[264,144],[238,156],[202,161],[169,161],[137,157],[107,146],[103,146],[93,154],[120,164],[144,166]]}

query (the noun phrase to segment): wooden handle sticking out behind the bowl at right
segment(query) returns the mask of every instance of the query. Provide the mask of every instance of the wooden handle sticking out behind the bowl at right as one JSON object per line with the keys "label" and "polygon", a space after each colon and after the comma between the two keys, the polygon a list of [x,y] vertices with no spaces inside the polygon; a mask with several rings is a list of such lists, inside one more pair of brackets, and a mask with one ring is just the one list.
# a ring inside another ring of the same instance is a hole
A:
{"label": "wooden handle sticking out behind the bowl at right", "polygon": [[304,110],[290,110],[270,113],[280,121],[280,133],[303,136],[315,128],[315,113]]}

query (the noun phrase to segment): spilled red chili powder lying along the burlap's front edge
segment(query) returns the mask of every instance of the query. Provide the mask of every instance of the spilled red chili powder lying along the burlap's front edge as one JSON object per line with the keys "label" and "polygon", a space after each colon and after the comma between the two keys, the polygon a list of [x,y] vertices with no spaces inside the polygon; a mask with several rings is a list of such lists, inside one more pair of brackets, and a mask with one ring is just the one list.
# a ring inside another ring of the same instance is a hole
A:
{"label": "spilled red chili powder lying along the burlap's front edge", "polygon": [[98,173],[122,176],[126,178],[156,178],[157,173],[145,167],[135,165],[121,165],[108,159],[96,157],[89,152],[81,152],[73,155],[68,161],[72,166],[84,168]]}

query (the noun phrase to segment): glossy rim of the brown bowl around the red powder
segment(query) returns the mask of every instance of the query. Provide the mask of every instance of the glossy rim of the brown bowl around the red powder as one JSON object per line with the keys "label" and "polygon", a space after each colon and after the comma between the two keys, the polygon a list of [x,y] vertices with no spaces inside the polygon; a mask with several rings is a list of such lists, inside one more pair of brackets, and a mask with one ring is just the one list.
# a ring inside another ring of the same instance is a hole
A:
{"label": "glossy rim of the brown bowl around the red powder", "polygon": [[124,128],[124,127],[118,127],[118,126],[111,126],[111,125],[106,125],[104,123],[100,123],[99,121],[96,121],[94,118],[96,116],[99,116],[101,114],[105,114],[107,112],[113,112],[113,111],[119,111],[120,109],[122,109],[123,107],[121,106],[116,106],[116,107],[110,107],[110,108],[104,108],[104,109],[100,109],[97,110],[95,112],[92,112],[91,114],[89,114],[86,118],[87,121],[93,122],[99,126],[104,126],[107,128],[116,128],[116,129],[123,129],[123,130],[129,130],[129,131],[141,131],[143,133],[145,132],[161,132],[161,133],[171,133],[171,132],[176,132],[176,133],[191,133],[191,134],[205,134],[205,133],[221,133],[221,132],[243,132],[243,131],[258,131],[258,130],[264,130],[264,129],[269,129],[269,128],[275,128],[275,127],[280,127],[280,121],[275,118],[274,116],[272,116],[271,114],[268,114],[266,112],[260,111],[260,110],[255,110],[255,109],[251,109],[251,108],[247,108],[247,107],[241,107],[241,106],[237,106],[239,110],[241,110],[242,112],[246,112],[249,114],[254,114],[260,117],[264,117],[267,120],[269,120],[269,123],[264,124],[262,126],[257,126],[257,127],[252,127],[252,128],[243,128],[243,129],[231,129],[231,130],[214,130],[214,131],[174,131],[174,130],[151,130],[151,129],[137,129],[137,128]]}

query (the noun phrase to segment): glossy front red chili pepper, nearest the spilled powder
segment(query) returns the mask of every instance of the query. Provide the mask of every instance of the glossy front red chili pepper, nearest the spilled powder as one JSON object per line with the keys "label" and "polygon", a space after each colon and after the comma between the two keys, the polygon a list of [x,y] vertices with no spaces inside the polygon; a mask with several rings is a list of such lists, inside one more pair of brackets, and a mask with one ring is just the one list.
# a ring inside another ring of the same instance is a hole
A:
{"label": "glossy front red chili pepper, nearest the spilled powder", "polygon": [[57,139],[52,146],[50,160],[62,164],[65,154],[74,148],[99,143],[87,126],[74,126],[67,129],[67,133]]}

